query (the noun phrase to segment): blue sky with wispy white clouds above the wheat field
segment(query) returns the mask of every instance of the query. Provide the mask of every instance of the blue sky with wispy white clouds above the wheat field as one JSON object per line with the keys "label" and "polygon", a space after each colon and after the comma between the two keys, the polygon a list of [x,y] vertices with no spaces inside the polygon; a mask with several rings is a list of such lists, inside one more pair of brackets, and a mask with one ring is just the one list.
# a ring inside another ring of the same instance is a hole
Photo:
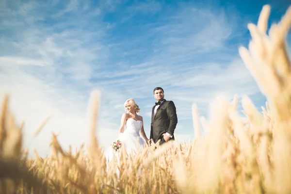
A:
{"label": "blue sky with wispy white clouds above the wheat field", "polygon": [[10,94],[17,121],[25,121],[24,146],[46,156],[52,131],[65,148],[87,143],[93,89],[102,92],[98,139],[105,147],[117,137],[129,97],[149,136],[157,86],[176,104],[180,141],[194,138],[194,102],[205,117],[217,95],[248,95],[264,106],[238,47],[247,47],[247,23],[257,22],[264,4],[271,5],[270,24],[289,4],[251,2],[0,0],[0,94]]}

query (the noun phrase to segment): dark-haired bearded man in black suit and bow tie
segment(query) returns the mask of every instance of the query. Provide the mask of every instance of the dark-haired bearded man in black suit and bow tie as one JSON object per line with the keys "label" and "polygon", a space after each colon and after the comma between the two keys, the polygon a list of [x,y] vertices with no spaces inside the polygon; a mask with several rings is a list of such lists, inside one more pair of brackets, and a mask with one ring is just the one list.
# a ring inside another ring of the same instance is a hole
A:
{"label": "dark-haired bearded man in black suit and bow tie", "polygon": [[150,140],[154,143],[161,140],[160,145],[162,145],[169,140],[175,140],[174,130],[176,129],[178,118],[174,102],[164,99],[164,91],[161,87],[154,89],[154,97],[157,102],[152,109]]}

